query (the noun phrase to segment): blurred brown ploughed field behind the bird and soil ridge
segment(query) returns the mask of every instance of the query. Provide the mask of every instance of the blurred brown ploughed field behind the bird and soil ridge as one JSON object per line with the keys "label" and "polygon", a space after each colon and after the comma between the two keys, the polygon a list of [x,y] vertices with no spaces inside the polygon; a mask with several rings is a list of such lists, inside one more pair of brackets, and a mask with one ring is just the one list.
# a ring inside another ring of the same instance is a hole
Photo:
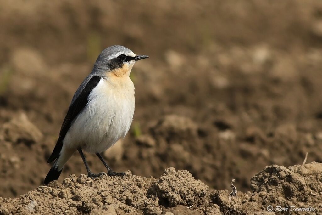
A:
{"label": "blurred brown ploughed field behind the bird and soil ridge", "polygon": [[[1,197],[42,184],[71,98],[110,45],[150,56],[131,73],[130,132],[104,153],[113,170],[173,166],[249,191],[266,165],[322,162],[322,1],[0,0]],[[71,173],[86,173],[76,153],[59,181]]]}

